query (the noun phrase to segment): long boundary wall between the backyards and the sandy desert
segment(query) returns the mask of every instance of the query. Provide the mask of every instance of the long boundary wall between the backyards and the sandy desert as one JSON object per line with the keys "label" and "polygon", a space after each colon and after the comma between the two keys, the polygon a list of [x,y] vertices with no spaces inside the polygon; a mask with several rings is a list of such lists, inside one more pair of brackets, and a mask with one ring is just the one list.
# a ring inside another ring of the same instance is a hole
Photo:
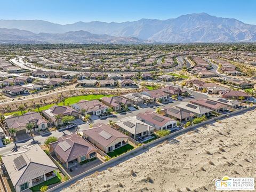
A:
{"label": "long boundary wall between the backyards and the sandy desert", "polygon": [[177,137],[177,136],[180,135],[180,134],[187,133],[188,131],[193,130],[193,129],[199,127],[199,126],[202,126],[202,125],[205,125],[205,124],[209,124],[209,123],[211,123],[211,122],[213,122],[213,121],[215,121],[215,120],[221,119],[221,118],[223,118],[223,117],[236,115],[236,114],[238,114],[238,113],[242,113],[242,112],[244,112],[244,111],[252,110],[252,109],[255,109],[255,108],[256,108],[256,106],[252,106],[252,107],[244,108],[244,109],[241,109],[241,110],[233,111],[233,112],[231,112],[231,113],[229,113],[229,114],[220,115],[220,116],[218,116],[218,117],[214,117],[214,118],[209,119],[209,120],[207,120],[207,121],[204,121],[204,122],[198,123],[198,124],[196,124],[196,125],[187,127],[187,128],[185,128],[185,129],[176,131],[176,132],[174,132],[174,133],[171,133],[171,134],[169,134],[169,135],[166,135],[165,137],[162,137],[162,138],[153,140],[153,141],[151,141],[151,142],[149,142],[149,143],[146,143],[146,144],[144,144],[144,145],[142,145],[142,146],[140,146],[140,147],[138,147],[138,148],[135,148],[135,149],[133,149],[133,150],[131,150],[131,151],[128,151],[127,153],[125,153],[125,154],[123,154],[123,155],[120,155],[120,156],[117,156],[116,158],[110,159],[110,160],[107,161],[106,163],[103,163],[103,164],[100,164],[100,165],[98,165],[98,166],[95,166],[95,167],[93,167],[92,169],[90,169],[90,170],[88,170],[88,171],[86,171],[86,172],[84,172],[84,173],[81,173],[81,174],[79,174],[79,175],[77,175],[77,176],[75,176],[75,177],[69,179],[69,180],[66,181],[66,182],[60,183],[59,185],[57,185],[57,186],[55,186],[55,187],[53,187],[53,188],[51,188],[51,189],[49,189],[49,190],[47,190],[47,191],[60,191],[60,190],[62,190],[63,188],[69,187],[70,185],[72,185],[73,183],[75,183],[77,180],[83,179],[83,178],[86,177],[87,175],[90,175],[90,174],[94,173],[95,171],[100,171],[101,169],[106,169],[109,165],[111,165],[111,164],[113,164],[113,163],[117,164],[117,162],[118,162],[118,161],[121,161],[121,160],[122,160],[121,162],[123,162],[126,157],[128,157],[128,156],[130,156],[130,155],[133,155],[134,153],[137,153],[138,151],[143,150],[143,149],[145,149],[145,148],[147,148],[147,147],[149,147],[149,146],[154,146],[154,145],[156,145],[157,143],[161,143],[161,142],[163,142],[163,141],[165,141],[165,140],[167,140],[167,139],[171,139],[171,138],[173,138],[173,137]]}

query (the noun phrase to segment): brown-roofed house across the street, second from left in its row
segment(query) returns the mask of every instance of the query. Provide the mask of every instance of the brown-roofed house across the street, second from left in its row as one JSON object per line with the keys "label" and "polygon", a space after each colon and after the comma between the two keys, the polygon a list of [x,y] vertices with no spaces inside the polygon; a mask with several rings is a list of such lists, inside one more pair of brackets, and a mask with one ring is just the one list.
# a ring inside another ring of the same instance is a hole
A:
{"label": "brown-roofed house across the street, second from left in its row", "polygon": [[73,116],[75,119],[81,118],[81,114],[69,106],[52,106],[50,109],[43,110],[42,114],[55,126],[63,124],[61,120],[63,116]]}

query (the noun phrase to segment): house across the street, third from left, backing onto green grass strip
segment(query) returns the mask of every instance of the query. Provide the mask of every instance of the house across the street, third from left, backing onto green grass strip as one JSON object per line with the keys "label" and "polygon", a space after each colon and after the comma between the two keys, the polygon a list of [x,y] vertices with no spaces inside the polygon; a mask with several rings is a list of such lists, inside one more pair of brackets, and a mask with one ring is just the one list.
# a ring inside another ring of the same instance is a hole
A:
{"label": "house across the street, third from left, backing onto green grass strip", "polygon": [[72,105],[73,109],[77,111],[85,110],[85,114],[89,115],[103,115],[107,113],[107,110],[109,109],[108,106],[103,105],[99,100],[81,100],[77,102],[76,104]]}

